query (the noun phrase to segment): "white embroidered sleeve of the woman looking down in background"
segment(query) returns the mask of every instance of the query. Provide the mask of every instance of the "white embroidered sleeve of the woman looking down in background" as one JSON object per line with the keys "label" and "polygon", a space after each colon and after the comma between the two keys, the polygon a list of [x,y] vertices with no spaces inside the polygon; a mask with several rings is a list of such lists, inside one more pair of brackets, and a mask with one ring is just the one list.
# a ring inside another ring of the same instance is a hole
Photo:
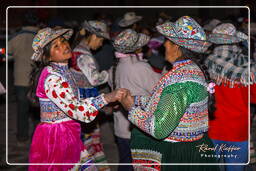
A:
{"label": "white embroidered sleeve of the woman looking down in background", "polygon": [[92,86],[101,85],[108,81],[108,72],[98,71],[95,60],[91,54],[80,55],[77,59],[77,65]]}

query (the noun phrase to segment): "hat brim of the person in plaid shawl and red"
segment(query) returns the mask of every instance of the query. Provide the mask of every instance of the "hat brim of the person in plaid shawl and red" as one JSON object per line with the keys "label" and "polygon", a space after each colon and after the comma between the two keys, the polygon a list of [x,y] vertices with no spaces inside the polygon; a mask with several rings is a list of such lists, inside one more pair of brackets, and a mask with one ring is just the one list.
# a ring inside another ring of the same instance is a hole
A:
{"label": "hat brim of the person in plaid shawl and red", "polygon": [[[244,34],[244,33],[241,33],[241,34]],[[215,44],[232,44],[232,43],[239,43],[246,39],[233,36],[233,35],[212,33],[209,35],[208,40]]]}

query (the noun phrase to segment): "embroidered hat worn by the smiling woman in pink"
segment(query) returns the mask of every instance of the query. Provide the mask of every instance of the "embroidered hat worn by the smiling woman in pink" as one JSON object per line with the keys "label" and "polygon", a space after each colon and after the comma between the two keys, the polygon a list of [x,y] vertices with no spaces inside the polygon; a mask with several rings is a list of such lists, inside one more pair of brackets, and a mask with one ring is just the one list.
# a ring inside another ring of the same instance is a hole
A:
{"label": "embroidered hat worn by the smiling woman in pink", "polygon": [[47,27],[47,28],[39,30],[32,42],[32,48],[34,50],[34,54],[32,55],[31,59],[34,61],[38,61],[43,54],[43,48],[48,43],[50,43],[52,40],[54,40],[57,37],[62,36],[62,35],[65,39],[68,40],[68,39],[70,39],[72,34],[73,34],[72,29],[54,30],[50,27]]}

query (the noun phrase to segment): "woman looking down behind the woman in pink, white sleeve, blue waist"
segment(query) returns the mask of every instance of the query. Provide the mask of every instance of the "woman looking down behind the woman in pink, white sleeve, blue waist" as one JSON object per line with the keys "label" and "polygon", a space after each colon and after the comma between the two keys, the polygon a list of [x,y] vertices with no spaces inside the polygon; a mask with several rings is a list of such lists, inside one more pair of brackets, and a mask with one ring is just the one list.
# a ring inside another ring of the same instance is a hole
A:
{"label": "woman looking down behind the woman in pink, white sleeve, blue waist", "polygon": [[[99,95],[96,86],[102,85],[108,80],[107,71],[99,72],[98,64],[91,50],[97,50],[103,44],[104,39],[109,39],[107,25],[101,21],[84,21],[82,29],[76,35],[75,48],[71,58],[71,72],[79,87],[80,97],[96,97]],[[78,44],[78,45],[77,45]],[[100,142],[100,128],[98,122],[92,124],[82,123],[82,137],[89,153],[96,163],[107,163]],[[106,165],[97,166],[100,171],[109,170]]]}

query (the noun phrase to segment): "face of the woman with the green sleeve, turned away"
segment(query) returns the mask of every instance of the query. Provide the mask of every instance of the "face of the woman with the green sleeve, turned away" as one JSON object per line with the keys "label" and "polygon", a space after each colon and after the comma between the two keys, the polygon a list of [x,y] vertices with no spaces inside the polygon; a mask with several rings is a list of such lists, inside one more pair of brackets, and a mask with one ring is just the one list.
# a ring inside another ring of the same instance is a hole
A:
{"label": "face of the woman with the green sleeve, turned away", "polygon": [[179,46],[172,43],[170,40],[166,40],[164,42],[165,47],[165,60],[169,63],[175,62],[180,56],[181,51],[179,50]]}

